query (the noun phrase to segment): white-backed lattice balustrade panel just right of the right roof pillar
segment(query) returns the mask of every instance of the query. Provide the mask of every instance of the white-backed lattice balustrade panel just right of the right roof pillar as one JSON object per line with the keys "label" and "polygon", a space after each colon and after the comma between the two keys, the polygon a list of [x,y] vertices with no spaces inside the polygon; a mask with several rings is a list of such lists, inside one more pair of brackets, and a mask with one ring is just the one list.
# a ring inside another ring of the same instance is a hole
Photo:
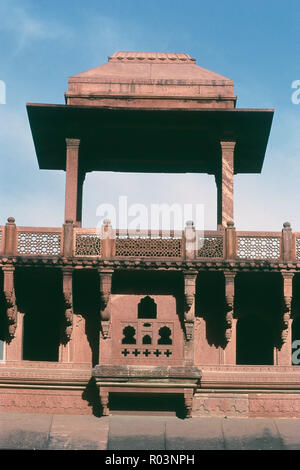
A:
{"label": "white-backed lattice balustrade panel just right of the right roof pillar", "polygon": [[280,257],[279,237],[238,237],[238,258],[278,259]]}

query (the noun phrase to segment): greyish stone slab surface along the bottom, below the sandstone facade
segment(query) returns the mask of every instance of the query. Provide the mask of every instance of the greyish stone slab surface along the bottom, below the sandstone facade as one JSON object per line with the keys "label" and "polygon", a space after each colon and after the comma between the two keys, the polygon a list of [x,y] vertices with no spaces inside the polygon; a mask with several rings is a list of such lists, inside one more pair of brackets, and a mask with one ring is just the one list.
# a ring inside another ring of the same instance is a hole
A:
{"label": "greyish stone slab surface along the bottom, below the sandstone facade", "polygon": [[300,449],[300,419],[0,413],[0,449]]}

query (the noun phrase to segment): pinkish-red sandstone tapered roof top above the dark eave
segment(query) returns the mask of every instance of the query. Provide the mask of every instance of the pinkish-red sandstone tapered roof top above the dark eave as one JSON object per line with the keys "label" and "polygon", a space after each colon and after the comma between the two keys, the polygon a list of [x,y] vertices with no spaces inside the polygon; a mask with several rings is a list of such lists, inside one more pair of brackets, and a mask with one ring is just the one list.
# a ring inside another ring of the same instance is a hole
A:
{"label": "pinkish-red sandstone tapered roof top above the dark eave", "polygon": [[69,78],[67,104],[138,108],[234,108],[233,81],[185,53],[116,52]]}

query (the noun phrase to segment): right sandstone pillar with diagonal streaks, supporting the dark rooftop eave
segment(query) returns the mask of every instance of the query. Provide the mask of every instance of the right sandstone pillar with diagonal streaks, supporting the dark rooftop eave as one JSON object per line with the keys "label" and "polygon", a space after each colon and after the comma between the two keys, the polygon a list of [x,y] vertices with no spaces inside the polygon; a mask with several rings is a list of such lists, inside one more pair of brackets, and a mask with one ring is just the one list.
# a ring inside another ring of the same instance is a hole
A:
{"label": "right sandstone pillar with diagonal streaks, supporting the dark rooftop eave", "polygon": [[225,228],[227,222],[234,220],[233,214],[233,176],[234,176],[234,141],[223,141],[221,145],[221,165],[216,173],[218,199],[218,227]]}

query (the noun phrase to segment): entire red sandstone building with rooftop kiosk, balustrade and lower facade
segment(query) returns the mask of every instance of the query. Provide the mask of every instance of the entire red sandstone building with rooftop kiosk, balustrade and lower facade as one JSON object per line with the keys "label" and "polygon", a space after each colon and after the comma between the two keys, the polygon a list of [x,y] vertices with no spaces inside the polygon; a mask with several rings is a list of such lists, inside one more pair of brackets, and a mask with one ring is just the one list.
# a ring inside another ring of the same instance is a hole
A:
{"label": "entire red sandstone building with rooftop kiosk, balustrade and lower facade", "polygon": [[[27,105],[39,167],[66,171],[64,224],[0,227],[0,410],[300,417],[300,233],[233,222],[273,110],[236,108],[188,54],[117,52],[65,97]],[[97,170],[215,175],[217,230],[83,228]]]}

